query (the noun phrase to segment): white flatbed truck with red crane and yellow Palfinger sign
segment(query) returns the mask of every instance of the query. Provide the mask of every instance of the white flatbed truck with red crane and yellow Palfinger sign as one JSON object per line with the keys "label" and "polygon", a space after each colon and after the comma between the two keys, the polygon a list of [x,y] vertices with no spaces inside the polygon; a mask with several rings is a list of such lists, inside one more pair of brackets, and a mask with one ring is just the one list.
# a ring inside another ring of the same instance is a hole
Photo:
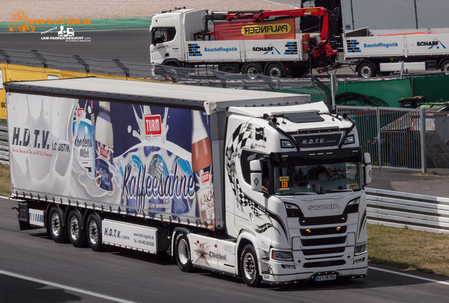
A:
{"label": "white flatbed truck with red crane and yellow Palfinger sign", "polygon": [[[295,18],[321,20],[317,34],[295,30]],[[324,8],[285,11],[208,12],[183,8],[153,16],[149,27],[152,65],[195,67],[216,65],[225,72],[272,77],[308,74],[337,58],[329,39],[333,14]],[[213,21],[213,29],[209,21]]]}

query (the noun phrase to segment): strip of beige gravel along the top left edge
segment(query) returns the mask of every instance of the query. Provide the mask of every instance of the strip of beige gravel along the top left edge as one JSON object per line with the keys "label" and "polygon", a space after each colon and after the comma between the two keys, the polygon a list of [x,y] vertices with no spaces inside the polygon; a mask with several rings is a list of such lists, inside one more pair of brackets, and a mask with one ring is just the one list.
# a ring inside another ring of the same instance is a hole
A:
{"label": "strip of beige gravel along the top left edge", "polygon": [[[9,2],[6,4],[6,2]],[[246,10],[280,10],[292,6],[275,4],[261,0],[0,0],[0,22],[9,22],[16,11],[22,9],[29,19],[76,18],[105,19],[148,17],[154,13],[168,11],[175,7],[207,8],[209,11],[246,11]]]}

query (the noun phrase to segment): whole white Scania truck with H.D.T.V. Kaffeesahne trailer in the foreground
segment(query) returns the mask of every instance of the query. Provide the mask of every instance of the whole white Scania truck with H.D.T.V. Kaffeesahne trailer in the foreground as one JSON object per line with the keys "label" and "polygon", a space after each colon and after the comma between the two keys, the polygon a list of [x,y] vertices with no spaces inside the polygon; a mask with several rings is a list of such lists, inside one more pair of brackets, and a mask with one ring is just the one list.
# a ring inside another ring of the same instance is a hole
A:
{"label": "whole white Scania truck with H.D.T.V. Kaffeesahne trailer in the foreground", "polygon": [[323,102],[96,78],[6,90],[21,229],[250,286],[366,276],[370,156]]}

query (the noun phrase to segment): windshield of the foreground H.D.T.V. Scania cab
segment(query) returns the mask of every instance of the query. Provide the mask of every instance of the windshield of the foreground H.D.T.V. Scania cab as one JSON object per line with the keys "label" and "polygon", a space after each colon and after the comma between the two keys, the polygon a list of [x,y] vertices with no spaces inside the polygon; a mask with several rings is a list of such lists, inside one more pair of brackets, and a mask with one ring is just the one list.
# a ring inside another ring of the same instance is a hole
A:
{"label": "windshield of the foreground H.D.T.V. Scania cab", "polygon": [[360,162],[283,163],[274,168],[277,195],[326,194],[362,189]]}

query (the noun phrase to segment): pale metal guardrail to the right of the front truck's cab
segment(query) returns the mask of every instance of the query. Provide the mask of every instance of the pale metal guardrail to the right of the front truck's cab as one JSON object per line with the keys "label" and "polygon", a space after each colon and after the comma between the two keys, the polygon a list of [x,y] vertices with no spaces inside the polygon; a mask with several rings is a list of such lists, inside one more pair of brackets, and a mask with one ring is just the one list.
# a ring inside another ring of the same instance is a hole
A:
{"label": "pale metal guardrail to the right of the front truck's cab", "polygon": [[449,234],[449,198],[366,189],[368,223]]}

